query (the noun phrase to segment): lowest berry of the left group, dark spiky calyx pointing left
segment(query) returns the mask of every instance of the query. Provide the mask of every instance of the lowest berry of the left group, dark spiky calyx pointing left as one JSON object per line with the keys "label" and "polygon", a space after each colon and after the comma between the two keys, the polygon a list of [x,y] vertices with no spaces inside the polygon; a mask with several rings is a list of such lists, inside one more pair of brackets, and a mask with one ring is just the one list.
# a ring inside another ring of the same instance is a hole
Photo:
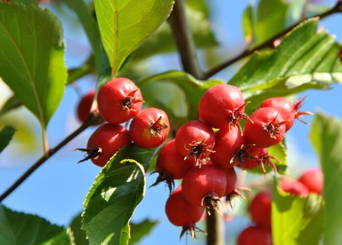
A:
{"label": "lowest berry of the left group, dark spiky calyx pointing left", "polygon": [[103,167],[120,148],[129,143],[131,139],[125,127],[104,123],[90,136],[86,149],[77,149],[87,153],[79,163],[91,159],[94,164]]}

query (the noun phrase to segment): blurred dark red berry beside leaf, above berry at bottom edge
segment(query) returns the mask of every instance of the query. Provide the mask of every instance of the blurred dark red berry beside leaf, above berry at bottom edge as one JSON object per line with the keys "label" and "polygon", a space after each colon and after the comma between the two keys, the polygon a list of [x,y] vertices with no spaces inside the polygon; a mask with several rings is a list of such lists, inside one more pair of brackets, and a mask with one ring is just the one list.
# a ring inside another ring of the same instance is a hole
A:
{"label": "blurred dark red berry beside leaf, above berry at bottom edge", "polygon": [[271,204],[271,192],[263,191],[254,196],[249,205],[248,211],[255,224],[271,227]]}

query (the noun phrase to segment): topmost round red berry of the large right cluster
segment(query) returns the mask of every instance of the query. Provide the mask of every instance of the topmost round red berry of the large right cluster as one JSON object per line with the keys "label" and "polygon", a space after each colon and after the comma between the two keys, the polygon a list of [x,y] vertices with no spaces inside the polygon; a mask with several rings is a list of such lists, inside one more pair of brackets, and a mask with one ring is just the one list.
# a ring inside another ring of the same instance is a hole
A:
{"label": "topmost round red berry of the large right cluster", "polygon": [[219,84],[208,89],[199,100],[198,113],[203,122],[214,128],[237,126],[239,121],[249,120],[244,114],[244,102],[240,89],[228,84]]}

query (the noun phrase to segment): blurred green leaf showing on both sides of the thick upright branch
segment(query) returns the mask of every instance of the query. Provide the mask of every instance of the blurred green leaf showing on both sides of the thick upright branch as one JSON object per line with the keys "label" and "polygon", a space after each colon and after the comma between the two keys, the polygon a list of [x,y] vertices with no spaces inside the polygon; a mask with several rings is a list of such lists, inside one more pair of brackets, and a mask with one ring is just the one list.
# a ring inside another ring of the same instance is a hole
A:
{"label": "blurred green leaf showing on both sides of the thick upright branch", "polygon": [[[197,49],[213,48],[218,45],[211,25],[204,14],[192,8],[186,8],[186,15]],[[174,52],[177,48],[169,23],[163,23],[142,45],[134,52],[132,61],[140,61],[149,56]]]}

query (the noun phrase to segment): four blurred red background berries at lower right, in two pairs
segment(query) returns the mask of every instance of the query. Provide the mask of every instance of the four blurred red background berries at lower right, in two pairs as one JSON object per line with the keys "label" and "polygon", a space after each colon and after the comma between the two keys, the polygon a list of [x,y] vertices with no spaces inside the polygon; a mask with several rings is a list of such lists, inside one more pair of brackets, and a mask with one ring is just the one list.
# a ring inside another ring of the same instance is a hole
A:
{"label": "four blurred red background berries at lower right, in two pairs", "polygon": [[[321,195],[323,174],[319,169],[304,172],[298,180],[283,178],[280,188],[294,196],[307,196],[309,193]],[[245,228],[238,237],[238,245],[272,245],[271,234],[272,193],[269,190],[258,193],[249,204],[248,212],[254,225]]]}

